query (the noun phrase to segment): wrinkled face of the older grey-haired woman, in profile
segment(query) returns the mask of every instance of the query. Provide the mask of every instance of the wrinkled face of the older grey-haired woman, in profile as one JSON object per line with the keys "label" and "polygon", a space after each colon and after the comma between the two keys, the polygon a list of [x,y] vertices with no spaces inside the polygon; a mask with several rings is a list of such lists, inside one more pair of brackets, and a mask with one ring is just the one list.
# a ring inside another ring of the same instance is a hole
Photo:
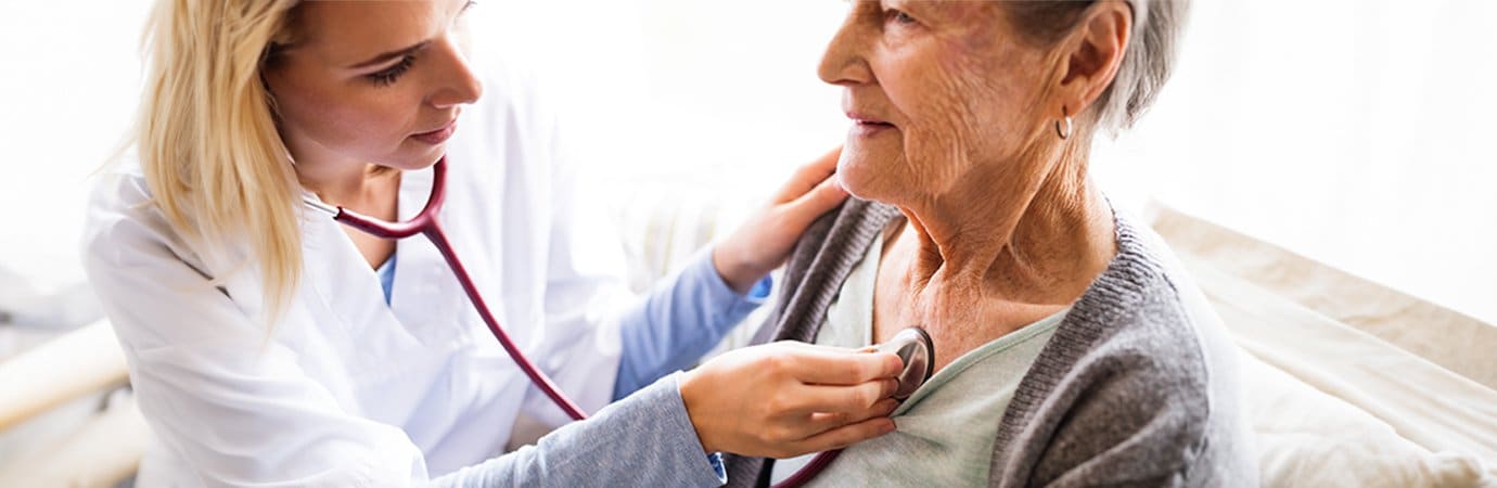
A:
{"label": "wrinkled face of the older grey-haired woman, in profile", "polygon": [[1013,160],[1045,124],[1046,70],[997,1],[856,1],[820,66],[853,120],[844,186],[898,204]]}

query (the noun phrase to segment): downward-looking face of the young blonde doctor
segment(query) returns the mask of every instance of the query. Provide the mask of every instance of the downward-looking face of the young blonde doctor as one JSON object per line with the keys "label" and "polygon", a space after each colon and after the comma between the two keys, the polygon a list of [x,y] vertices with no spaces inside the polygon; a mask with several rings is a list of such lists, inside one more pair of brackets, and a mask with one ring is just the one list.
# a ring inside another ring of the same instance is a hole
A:
{"label": "downward-looking face of the young blonde doctor", "polygon": [[299,169],[421,169],[445,153],[482,87],[461,42],[467,0],[302,1],[265,61],[281,139]]}

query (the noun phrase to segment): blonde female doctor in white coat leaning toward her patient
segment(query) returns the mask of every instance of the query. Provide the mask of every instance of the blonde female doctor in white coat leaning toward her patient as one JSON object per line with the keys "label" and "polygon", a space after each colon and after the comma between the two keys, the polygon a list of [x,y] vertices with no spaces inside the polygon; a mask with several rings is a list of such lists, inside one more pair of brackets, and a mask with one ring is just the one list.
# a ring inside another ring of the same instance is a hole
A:
{"label": "blonde female doctor in white coat leaning toward her patient", "polygon": [[[889,353],[780,343],[675,373],[841,201],[835,157],[621,302],[552,114],[524,76],[479,82],[467,6],[157,4],[135,154],[97,183],[84,243],[156,434],[142,487],[719,485],[716,452],[799,455],[894,428]],[[436,248],[301,204],[409,219],[443,156],[440,222],[478,289],[542,371],[602,409],[504,455],[521,412],[564,416]]]}

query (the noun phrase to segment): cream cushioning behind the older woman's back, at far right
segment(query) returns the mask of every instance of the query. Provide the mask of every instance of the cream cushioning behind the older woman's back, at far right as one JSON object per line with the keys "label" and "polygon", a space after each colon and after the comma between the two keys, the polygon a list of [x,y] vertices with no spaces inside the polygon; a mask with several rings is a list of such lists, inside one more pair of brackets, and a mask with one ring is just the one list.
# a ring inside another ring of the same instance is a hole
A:
{"label": "cream cushioning behind the older woman's back, at far right", "polygon": [[[1376,284],[1157,204],[1153,211],[1247,352],[1263,485],[1497,487],[1497,391],[1461,374],[1482,377],[1491,361],[1430,356],[1491,350],[1494,335],[1457,334],[1491,326],[1406,305],[1407,295],[1364,293]],[[1359,323],[1337,320],[1347,316]]]}

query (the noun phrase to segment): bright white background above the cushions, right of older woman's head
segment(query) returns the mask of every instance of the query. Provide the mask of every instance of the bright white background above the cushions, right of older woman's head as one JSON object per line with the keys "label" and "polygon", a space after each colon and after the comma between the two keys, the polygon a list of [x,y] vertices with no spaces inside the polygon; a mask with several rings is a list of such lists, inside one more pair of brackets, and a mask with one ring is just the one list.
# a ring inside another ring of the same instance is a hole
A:
{"label": "bright white background above the cushions, right of older woman's head", "polygon": [[[1497,323],[1497,3],[1198,1],[1118,165],[1160,199]],[[1115,168],[1114,168],[1115,169]]]}

